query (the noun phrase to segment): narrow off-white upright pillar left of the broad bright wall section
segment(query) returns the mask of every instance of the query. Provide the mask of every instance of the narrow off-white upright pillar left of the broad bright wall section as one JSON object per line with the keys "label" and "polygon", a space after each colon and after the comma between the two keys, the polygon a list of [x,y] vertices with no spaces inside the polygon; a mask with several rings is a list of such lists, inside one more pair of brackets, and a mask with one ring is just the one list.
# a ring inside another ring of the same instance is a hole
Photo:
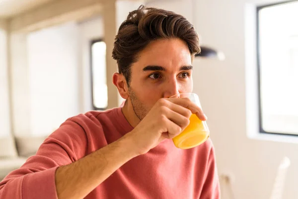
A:
{"label": "narrow off-white upright pillar left of the broad bright wall section", "polygon": [[30,134],[30,91],[27,64],[27,35],[9,34],[9,75],[11,92],[12,133]]}

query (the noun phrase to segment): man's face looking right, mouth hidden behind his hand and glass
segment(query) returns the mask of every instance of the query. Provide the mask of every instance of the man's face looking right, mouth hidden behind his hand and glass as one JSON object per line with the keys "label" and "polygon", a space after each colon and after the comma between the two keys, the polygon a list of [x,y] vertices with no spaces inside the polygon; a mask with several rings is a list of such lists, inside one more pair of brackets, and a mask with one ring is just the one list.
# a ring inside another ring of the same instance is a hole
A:
{"label": "man's face looking right, mouth hidden behind his hand and glass", "polygon": [[180,39],[149,43],[131,67],[129,98],[142,120],[160,98],[192,92],[192,59]]}

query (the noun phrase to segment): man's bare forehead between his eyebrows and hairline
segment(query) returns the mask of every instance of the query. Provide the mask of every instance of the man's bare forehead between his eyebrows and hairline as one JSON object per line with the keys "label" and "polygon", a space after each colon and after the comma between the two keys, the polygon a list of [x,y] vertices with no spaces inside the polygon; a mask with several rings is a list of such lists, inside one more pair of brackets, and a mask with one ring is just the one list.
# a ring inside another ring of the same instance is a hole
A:
{"label": "man's bare forehead between his eyebrows and hairline", "polygon": [[133,64],[133,70],[142,70],[149,65],[175,69],[191,64],[191,54],[186,42],[178,38],[159,39],[150,42],[139,53],[137,62]]}

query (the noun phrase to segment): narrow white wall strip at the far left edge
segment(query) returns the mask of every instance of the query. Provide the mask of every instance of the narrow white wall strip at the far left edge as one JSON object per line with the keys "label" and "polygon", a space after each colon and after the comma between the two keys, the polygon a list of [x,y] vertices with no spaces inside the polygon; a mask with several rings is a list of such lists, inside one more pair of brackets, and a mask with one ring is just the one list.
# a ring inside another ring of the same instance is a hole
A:
{"label": "narrow white wall strip at the far left edge", "polygon": [[5,21],[0,21],[0,137],[10,134],[7,69],[7,32]]}

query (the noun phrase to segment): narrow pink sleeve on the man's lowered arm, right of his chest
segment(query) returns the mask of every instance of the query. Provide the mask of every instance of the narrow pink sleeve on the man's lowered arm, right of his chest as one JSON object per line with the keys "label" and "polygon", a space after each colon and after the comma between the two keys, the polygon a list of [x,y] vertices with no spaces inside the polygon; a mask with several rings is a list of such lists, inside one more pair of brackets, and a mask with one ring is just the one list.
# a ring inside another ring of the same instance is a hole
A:
{"label": "narrow pink sleeve on the man's lowered arm, right of his chest", "polygon": [[217,171],[215,151],[213,144],[209,153],[208,165],[206,168],[206,179],[203,185],[200,199],[220,199],[220,182]]}

